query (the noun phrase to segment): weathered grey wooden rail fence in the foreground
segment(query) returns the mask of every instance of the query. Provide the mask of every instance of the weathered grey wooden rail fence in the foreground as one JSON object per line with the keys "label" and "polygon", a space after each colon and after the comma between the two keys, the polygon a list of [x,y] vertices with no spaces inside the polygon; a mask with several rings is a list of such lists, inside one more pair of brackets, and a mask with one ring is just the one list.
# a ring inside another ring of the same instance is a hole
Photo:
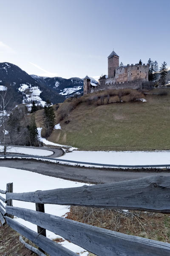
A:
{"label": "weathered grey wooden rail fence in the foreground", "polygon": [[[28,238],[50,256],[76,256],[71,250],[41,234],[50,230],[97,256],[170,256],[170,244],[79,223],[43,212],[43,204],[78,205],[109,209],[136,209],[170,213],[170,177],[150,176],[135,180],[81,186],[67,189],[13,193],[11,183],[6,194],[6,207],[0,203],[0,220]],[[12,206],[12,200],[38,204],[37,211]],[[19,224],[17,216],[40,229],[37,232]],[[37,249],[35,249],[37,250]],[[38,251],[38,250],[37,250]],[[38,251],[39,255],[44,255]]]}

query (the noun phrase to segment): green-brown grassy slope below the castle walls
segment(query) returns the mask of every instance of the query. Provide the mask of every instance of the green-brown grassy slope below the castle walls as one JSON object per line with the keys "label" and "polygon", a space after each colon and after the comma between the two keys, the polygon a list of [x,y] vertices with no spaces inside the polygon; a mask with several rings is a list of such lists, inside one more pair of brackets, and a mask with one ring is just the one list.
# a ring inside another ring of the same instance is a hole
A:
{"label": "green-brown grassy slope below the castle walls", "polygon": [[[156,91],[158,89],[150,93]],[[167,92],[170,93],[170,89]],[[170,94],[147,94],[143,97],[147,102],[117,102],[107,105],[82,102],[60,121],[62,129],[54,130],[48,140],[81,150],[169,149]],[[37,112],[40,126],[42,111]],[[56,117],[57,115],[58,110]],[[68,119],[71,121],[65,124]]]}

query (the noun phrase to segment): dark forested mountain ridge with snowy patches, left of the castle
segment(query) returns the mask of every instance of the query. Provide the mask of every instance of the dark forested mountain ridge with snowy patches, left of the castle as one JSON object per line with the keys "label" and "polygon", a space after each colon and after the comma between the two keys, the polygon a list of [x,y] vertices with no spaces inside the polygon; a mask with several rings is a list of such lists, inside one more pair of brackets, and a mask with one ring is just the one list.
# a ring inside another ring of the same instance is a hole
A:
{"label": "dark forested mountain ridge with snowy patches, left of the castle", "polygon": [[49,99],[53,104],[63,102],[68,97],[83,94],[83,79],[71,77],[44,77],[29,75],[15,64],[0,63],[0,85],[8,88],[8,98],[11,97],[8,107],[21,103],[44,105]]}

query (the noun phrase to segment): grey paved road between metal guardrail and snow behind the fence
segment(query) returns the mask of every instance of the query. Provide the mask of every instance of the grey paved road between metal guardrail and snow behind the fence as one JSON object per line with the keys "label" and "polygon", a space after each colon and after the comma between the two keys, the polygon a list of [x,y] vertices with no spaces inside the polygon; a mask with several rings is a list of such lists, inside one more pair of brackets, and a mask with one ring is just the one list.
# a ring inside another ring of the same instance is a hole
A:
{"label": "grey paved road between metal guardrail and snow behind the fence", "polygon": [[170,172],[159,172],[147,169],[146,172],[136,169],[97,169],[75,166],[65,166],[56,163],[47,163],[37,160],[0,160],[0,166],[23,169],[31,172],[37,172],[43,175],[59,177],[67,180],[74,180],[87,183],[108,183],[113,181],[137,179],[150,175],[170,176]]}

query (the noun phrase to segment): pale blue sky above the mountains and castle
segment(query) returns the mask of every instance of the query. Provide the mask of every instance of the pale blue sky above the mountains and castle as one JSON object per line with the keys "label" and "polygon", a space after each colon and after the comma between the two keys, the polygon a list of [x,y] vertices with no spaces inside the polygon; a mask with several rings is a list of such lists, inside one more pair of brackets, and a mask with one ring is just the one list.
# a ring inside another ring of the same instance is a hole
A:
{"label": "pale blue sky above the mountains and castle", "polygon": [[0,62],[42,76],[97,77],[107,57],[170,66],[170,0],[0,0]]}

